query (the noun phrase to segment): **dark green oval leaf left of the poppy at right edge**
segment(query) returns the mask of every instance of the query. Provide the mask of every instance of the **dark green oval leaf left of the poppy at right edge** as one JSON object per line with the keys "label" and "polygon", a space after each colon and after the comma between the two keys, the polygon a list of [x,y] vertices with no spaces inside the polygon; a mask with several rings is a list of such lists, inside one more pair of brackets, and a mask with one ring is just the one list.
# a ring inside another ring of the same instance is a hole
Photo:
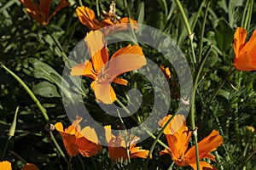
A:
{"label": "dark green oval leaf left of the poppy at right edge", "polygon": [[215,40],[221,51],[224,52],[230,48],[233,42],[233,31],[225,20],[219,20],[218,26],[215,28]]}

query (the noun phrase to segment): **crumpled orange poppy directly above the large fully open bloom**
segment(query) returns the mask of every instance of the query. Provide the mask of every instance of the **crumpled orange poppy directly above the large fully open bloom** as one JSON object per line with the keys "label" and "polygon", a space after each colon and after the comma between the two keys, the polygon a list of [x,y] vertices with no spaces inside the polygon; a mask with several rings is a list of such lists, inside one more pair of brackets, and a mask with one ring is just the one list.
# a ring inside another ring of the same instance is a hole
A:
{"label": "crumpled orange poppy directly above the large fully open bloom", "polygon": [[[118,25],[118,24],[123,24],[123,23],[128,23],[128,17],[124,17],[120,20],[116,20],[116,22],[113,22],[110,18],[102,20],[100,22],[99,20],[96,20],[96,15],[93,10],[91,10],[88,7],[78,7],[76,8],[76,13],[79,17],[80,22],[84,25],[87,26],[90,30],[96,31],[98,29],[103,28],[104,26],[113,26],[113,25]],[[133,24],[137,24],[136,20],[131,20],[130,22]],[[134,25],[134,28],[137,29],[137,26]],[[122,26],[117,26],[115,27],[115,31],[119,30],[125,30],[127,27],[122,27]]]}

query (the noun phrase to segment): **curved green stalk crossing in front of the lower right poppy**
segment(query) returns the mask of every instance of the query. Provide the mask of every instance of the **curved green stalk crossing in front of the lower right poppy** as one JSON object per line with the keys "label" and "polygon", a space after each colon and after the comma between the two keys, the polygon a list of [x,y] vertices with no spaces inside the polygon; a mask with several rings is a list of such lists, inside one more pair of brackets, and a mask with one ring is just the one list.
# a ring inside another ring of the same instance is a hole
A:
{"label": "curved green stalk crossing in front of the lower right poppy", "polygon": [[191,128],[193,131],[193,137],[195,140],[195,156],[196,156],[196,168],[197,170],[200,169],[200,160],[199,160],[199,150],[198,150],[198,144],[197,144],[197,132],[196,132],[196,127],[195,127],[195,94],[196,94],[196,89],[198,86],[198,82],[199,82],[199,77],[201,75],[201,71],[203,68],[203,65],[205,64],[210,52],[211,52],[212,46],[210,46],[210,49],[208,50],[207,55],[205,56],[205,58],[201,61],[201,65],[197,71],[197,74],[195,76],[195,82],[194,82],[194,88],[193,88],[193,92],[192,92],[192,99],[191,99],[191,110],[190,110],[190,123],[191,123]]}

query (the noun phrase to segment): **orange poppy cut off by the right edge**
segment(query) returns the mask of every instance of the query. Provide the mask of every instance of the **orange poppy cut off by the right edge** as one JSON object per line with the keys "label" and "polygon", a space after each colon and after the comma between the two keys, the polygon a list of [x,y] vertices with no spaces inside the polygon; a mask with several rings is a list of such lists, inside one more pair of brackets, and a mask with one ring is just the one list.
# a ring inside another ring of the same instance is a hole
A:
{"label": "orange poppy cut off by the right edge", "polygon": [[238,71],[256,70],[256,29],[246,42],[247,31],[238,27],[234,35],[234,66]]}

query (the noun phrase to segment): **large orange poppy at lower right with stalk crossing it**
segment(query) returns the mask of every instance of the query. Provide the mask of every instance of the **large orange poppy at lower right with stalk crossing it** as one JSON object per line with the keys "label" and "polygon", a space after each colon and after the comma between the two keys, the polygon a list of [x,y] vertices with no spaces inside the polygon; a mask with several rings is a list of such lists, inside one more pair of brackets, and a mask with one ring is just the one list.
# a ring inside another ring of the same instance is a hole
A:
{"label": "large orange poppy at lower right with stalk crossing it", "polygon": [[[168,120],[169,118],[170,116],[166,116],[161,126],[163,126],[166,120]],[[177,119],[178,121],[181,120],[180,118]],[[168,127],[170,126],[168,125]],[[174,125],[172,127],[176,126]],[[169,154],[172,157],[172,160],[177,164],[177,166],[190,166],[193,167],[193,169],[196,169],[195,145],[188,150],[189,139],[191,138],[192,133],[189,132],[189,129],[188,127],[186,127],[185,122],[183,122],[183,125],[175,133],[172,133],[172,130],[167,132],[168,133],[166,133],[166,139],[170,150],[165,149],[160,151],[160,156],[163,154]],[[222,143],[223,138],[219,135],[218,131],[213,130],[212,133],[210,133],[206,138],[202,139],[198,143],[199,158],[208,158],[212,161],[215,161],[215,157],[210,153],[210,151],[216,150],[217,147]],[[214,169],[214,167],[212,167],[206,161],[200,161],[200,169],[202,170],[203,168]]]}

